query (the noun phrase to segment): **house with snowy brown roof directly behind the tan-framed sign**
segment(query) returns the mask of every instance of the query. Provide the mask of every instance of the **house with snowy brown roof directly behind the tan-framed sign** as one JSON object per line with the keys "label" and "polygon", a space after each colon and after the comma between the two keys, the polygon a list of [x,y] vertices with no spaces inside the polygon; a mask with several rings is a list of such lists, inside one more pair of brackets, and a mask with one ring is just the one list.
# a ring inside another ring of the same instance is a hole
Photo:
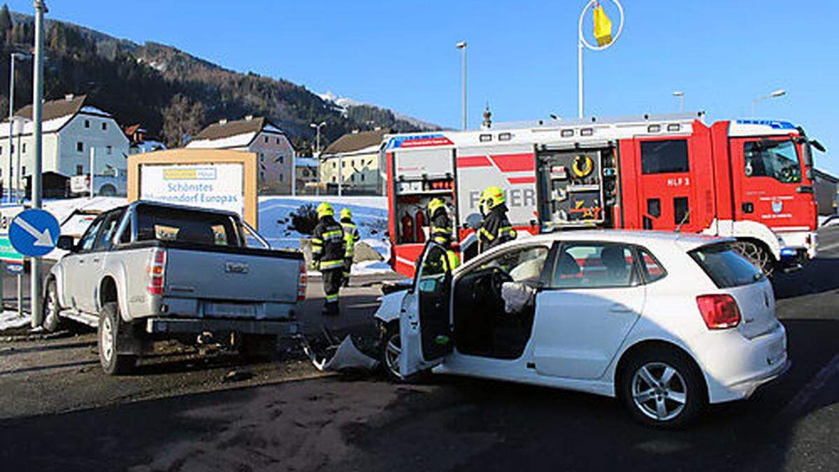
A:
{"label": "house with snowy brown roof directly behind the tan-framed sign", "polygon": [[268,121],[268,118],[248,115],[237,121],[222,119],[204,128],[186,147],[256,153],[259,164],[258,190],[270,193],[291,192],[294,148],[283,130]]}

